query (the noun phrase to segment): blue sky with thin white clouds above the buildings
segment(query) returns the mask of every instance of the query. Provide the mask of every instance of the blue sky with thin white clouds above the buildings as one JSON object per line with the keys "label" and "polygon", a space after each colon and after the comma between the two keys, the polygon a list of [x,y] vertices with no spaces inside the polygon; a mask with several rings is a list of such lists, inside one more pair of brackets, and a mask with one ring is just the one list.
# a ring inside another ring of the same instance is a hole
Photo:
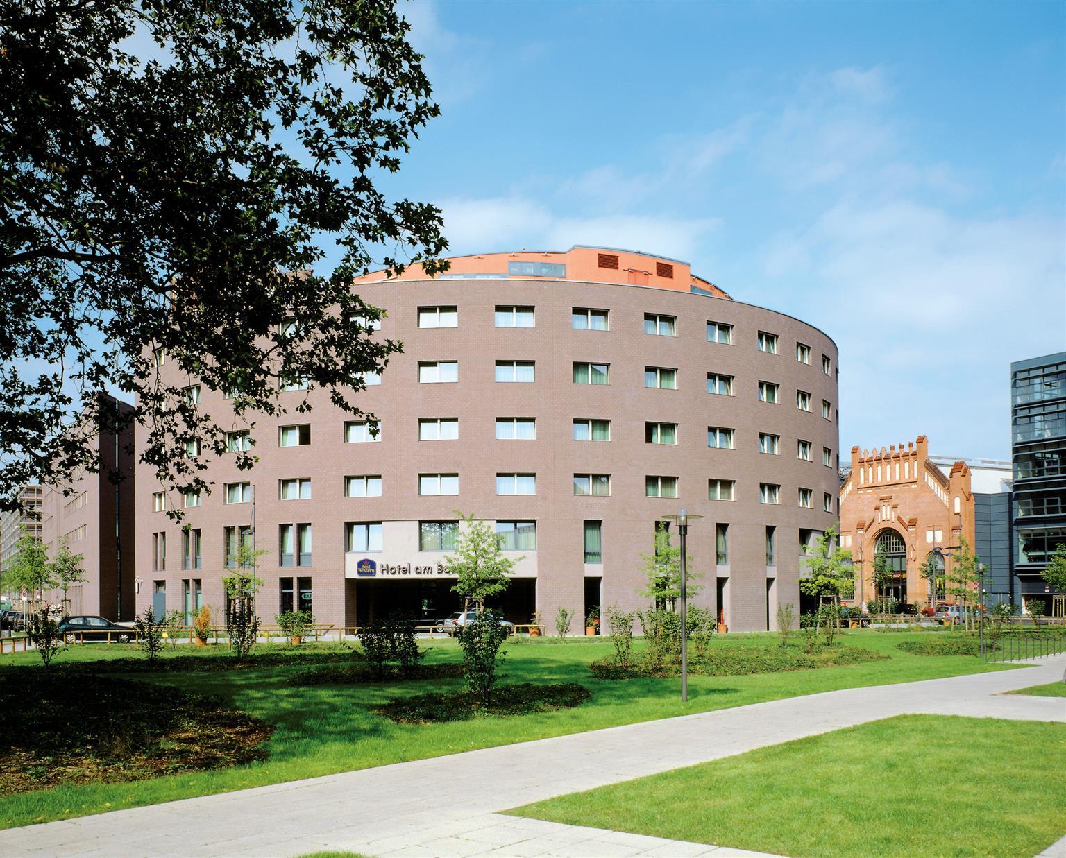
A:
{"label": "blue sky with thin white clouds above the buildings", "polygon": [[401,4],[449,253],[641,249],[840,349],[840,443],[1008,459],[1066,350],[1066,4]]}

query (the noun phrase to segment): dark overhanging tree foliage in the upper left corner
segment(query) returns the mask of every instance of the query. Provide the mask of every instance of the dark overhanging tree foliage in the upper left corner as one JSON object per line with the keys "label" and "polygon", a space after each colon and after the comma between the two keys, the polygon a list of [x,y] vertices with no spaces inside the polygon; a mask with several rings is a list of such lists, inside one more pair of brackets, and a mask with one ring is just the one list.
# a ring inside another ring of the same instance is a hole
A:
{"label": "dark overhanging tree foliage in the upper left corner", "polygon": [[157,354],[238,425],[307,410],[292,378],[360,414],[400,344],[354,321],[379,311],[352,277],[445,268],[439,212],[381,188],[439,112],[408,31],[387,0],[0,0],[3,508],[131,420],[165,485],[209,490],[235,421]]}

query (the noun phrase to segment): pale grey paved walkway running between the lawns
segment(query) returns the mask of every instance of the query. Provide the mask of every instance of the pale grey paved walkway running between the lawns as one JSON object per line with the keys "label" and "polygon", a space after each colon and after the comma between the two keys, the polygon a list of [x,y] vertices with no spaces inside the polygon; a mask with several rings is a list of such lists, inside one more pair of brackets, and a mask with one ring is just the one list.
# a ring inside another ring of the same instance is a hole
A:
{"label": "pale grey paved walkway running between the lawns", "polygon": [[[254,790],[0,831],[3,856],[741,855],[499,811],[908,713],[1066,722],[1066,700],[1003,692],[1062,679],[1037,666],[877,685],[644,722]],[[1060,849],[1060,847],[1062,847]],[[1066,854],[1066,842],[1052,847]],[[748,853],[750,854],[750,853]],[[1048,855],[1057,854],[1049,849]]]}

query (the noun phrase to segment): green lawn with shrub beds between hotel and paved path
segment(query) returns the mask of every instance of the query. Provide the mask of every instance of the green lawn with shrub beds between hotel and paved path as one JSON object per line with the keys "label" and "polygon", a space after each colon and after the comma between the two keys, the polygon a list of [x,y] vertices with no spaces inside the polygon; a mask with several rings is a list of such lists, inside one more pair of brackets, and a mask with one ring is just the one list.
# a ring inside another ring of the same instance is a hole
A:
{"label": "green lawn with shrub beds between hotel and paved path", "polygon": [[[126,783],[58,787],[7,796],[0,799],[0,828],[803,694],[1014,669],[1004,665],[987,665],[972,657],[903,652],[895,645],[905,636],[875,631],[853,631],[844,636],[843,641],[849,646],[869,647],[885,653],[889,657],[885,661],[781,674],[693,677],[689,682],[687,706],[678,699],[679,683],[676,679],[613,682],[593,679],[588,663],[610,655],[611,643],[608,638],[580,638],[566,643],[550,638],[521,638],[506,645],[505,681],[577,681],[589,689],[592,699],[577,709],[560,712],[435,725],[399,725],[369,710],[398,696],[459,689],[462,680],[317,686],[288,684],[287,680],[295,671],[306,669],[304,666],[136,673],[131,676],[171,683],[190,692],[216,695],[237,709],[276,724],[277,729],[268,744],[269,759],[233,768]],[[776,640],[776,636],[724,635],[721,640],[731,645],[757,646],[768,643],[768,638]],[[712,643],[712,646],[715,644]],[[336,645],[322,646],[339,649]],[[636,644],[637,648],[642,646],[642,643]],[[263,649],[257,647],[256,651]],[[279,645],[271,649],[286,648]],[[191,651],[188,647],[179,648],[179,652]],[[104,661],[136,652],[132,646],[87,645],[61,653],[55,664],[70,660]],[[201,653],[201,657],[227,658],[224,649],[211,650]],[[457,660],[458,649],[454,642],[432,642],[427,662]],[[34,663],[39,663],[39,660],[32,652],[9,654],[0,660],[0,665]],[[100,667],[104,669],[106,664]],[[4,683],[0,673],[2,690]],[[12,694],[12,690],[7,691]],[[10,699],[17,703],[17,694],[12,694]]]}

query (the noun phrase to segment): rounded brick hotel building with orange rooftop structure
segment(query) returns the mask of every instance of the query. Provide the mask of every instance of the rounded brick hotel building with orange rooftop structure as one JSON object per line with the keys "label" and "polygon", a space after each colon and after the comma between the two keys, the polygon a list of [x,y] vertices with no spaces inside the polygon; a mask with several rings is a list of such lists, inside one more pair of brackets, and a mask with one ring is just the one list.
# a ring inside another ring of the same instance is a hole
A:
{"label": "rounded brick hotel building with orange rooftop structure", "polygon": [[[798,606],[802,555],[838,519],[825,334],[731,300],[687,263],[608,248],[457,257],[434,278],[413,266],[355,288],[385,310],[371,336],[404,345],[359,398],[376,437],[325,391],[293,389],[281,419],[233,426],[230,444],[249,431],[259,462],[211,462],[210,495],[167,496],[139,464],[139,612],[219,615],[227,564],[254,538],[268,550],[265,618],[435,619],[459,606],[442,565],[456,511],[522,557],[499,603],[508,619],[630,609],[646,602],[640,555],[682,506],[704,516],[689,540],[697,603],[736,631]],[[171,376],[172,361],[161,372],[225,414],[221,392]]]}

